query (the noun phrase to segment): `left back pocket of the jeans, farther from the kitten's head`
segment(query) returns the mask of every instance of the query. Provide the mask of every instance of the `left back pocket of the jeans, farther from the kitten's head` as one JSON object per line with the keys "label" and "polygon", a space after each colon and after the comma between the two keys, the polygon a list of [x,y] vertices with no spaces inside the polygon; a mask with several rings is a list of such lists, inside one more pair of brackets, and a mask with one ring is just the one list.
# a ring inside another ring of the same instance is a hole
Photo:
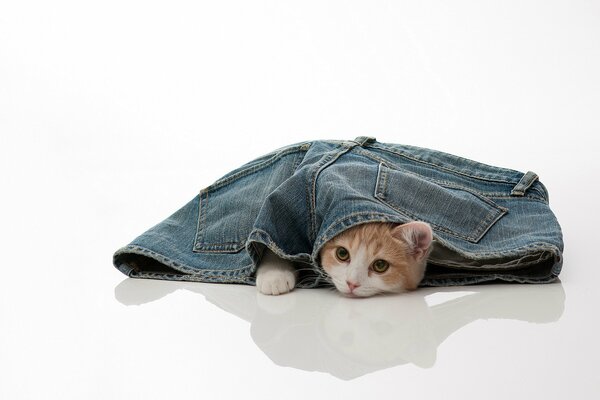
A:
{"label": "left back pocket of the jeans, farther from the kitten's head", "polygon": [[305,143],[277,150],[200,191],[193,251],[236,253],[242,250],[265,199],[294,174],[309,146]]}

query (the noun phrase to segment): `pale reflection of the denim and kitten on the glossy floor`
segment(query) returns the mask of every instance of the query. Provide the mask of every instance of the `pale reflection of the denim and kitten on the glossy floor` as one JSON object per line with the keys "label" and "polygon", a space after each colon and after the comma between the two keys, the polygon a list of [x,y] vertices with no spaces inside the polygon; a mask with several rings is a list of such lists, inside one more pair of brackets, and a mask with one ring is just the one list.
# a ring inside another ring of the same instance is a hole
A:
{"label": "pale reflection of the denim and kitten on the glossy floor", "polygon": [[[254,342],[276,364],[341,379],[405,363],[431,367],[437,347],[472,321],[553,322],[565,301],[560,283],[427,288],[351,299],[326,289],[264,296],[249,286],[136,279],[121,282],[115,297],[126,305],[142,304],[177,289],[200,293],[249,321]],[[430,305],[449,297],[454,298]]]}

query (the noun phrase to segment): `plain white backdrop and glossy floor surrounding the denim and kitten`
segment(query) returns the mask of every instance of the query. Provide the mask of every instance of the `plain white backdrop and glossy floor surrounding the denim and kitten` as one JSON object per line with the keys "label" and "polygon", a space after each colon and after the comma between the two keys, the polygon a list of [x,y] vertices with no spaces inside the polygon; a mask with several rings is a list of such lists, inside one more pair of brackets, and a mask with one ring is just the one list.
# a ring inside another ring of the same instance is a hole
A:
{"label": "plain white backdrop and glossy floor surrounding the denim and kitten", "polygon": [[[0,2],[0,398],[598,398],[598,1]],[[277,147],[533,170],[561,284],[127,279],[112,253]]]}

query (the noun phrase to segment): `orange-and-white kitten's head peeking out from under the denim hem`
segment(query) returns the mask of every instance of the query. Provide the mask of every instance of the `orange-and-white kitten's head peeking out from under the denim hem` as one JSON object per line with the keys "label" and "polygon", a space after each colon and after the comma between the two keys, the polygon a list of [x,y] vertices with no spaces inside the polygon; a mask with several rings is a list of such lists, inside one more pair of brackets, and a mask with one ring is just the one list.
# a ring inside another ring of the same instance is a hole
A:
{"label": "orange-and-white kitten's head peeking out from under the denim hem", "polygon": [[373,222],[350,228],[321,249],[321,265],[343,294],[367,297],[416,289],[423,279],[432,231],[425,222]]}

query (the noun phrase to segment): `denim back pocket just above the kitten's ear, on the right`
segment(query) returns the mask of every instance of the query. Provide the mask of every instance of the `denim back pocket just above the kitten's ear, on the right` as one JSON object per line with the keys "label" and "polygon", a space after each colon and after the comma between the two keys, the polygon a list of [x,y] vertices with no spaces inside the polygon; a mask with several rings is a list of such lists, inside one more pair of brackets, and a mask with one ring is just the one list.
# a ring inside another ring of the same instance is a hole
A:
{"label": "denim back pocket just above the kitten's ear, on the right", "polygon": [[392,169],[381,163],[375,197],[401,214],[428,222],[437,231],[477,243],[507,209],[447,182]]}

